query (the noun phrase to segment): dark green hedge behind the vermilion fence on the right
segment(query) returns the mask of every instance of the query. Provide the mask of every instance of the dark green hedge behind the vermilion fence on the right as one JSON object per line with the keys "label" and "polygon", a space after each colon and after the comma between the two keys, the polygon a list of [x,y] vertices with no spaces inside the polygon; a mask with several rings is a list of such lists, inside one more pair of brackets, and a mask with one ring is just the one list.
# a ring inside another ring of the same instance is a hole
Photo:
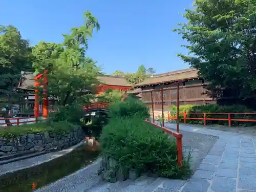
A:
{"label": "dark green hedge behind the vermilion fence on the right", "polygon": [[[177,107],[175,105],[170,106],[170,113],[176,113]],[[256,113],[255,111],[246,108],[244,105],[218,105],[218,104],[203,104],[203,105],[193,105],[186,104],[180,106],[180,113]],[[176,115],[172,115],[175,117]],[[181,118],[184,115],[180,115]],[[203,118],[203,114],[187,114],[187,117]],[[219,118],[227,119],[227,114],[207,114],[207,118]],[[232,119],[256,119],[256,115],[243,115],[243,114],[231,114]],[[181,122],[184,122],[181,119]],[[204,124],[203,120],[186,120],[186,123],[190,124]],[[228,125],[228,121],[222,120],[207,120],[208,125]],[[254,126],[255,122],[245,122],[245,121],[232,121],[232,126]]]}

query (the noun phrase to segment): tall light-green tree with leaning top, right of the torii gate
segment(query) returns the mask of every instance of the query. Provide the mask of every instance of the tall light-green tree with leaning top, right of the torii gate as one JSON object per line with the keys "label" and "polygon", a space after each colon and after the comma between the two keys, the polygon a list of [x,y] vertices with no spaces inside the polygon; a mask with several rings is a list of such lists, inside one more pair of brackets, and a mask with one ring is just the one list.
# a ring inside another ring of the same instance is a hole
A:
{"label": "tall light-green tree with leaning top, right of the torii gate", "polygon": [[41,42],[33,50],[33,66],[38,72],[47,69],[49,63],[53,64],[48,69],[48,95],[58,105],[86,104],[94,98],[100,68],[86,57],[88,38],[92,37],[94,29],[100,29],[97,19],[85,12],[84,25],[62,34],[62,44]]}

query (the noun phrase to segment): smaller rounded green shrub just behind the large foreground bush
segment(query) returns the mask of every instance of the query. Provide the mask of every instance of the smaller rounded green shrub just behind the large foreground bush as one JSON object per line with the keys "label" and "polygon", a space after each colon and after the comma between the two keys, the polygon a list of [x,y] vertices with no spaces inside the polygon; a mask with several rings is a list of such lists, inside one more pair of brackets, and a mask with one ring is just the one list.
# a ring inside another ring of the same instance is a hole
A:
{"label": "smaller rounded green shrub just behind the large foreground bush", "polygon": [[128,97],[123,102],[116,102],[109,106],[111,117],[125,117],[137,114],[142,119],[150,117],[148,106],[143,101],[134,97]]}

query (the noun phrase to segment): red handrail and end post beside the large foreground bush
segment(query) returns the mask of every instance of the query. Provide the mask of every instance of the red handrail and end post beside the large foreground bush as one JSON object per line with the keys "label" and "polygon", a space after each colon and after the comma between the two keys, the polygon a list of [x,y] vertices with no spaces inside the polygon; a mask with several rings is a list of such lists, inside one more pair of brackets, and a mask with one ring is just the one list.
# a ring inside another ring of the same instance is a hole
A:
{"label": "red handrail and end post beside the large foreground bush", "polygon": [[[147,120],[145,120],[145,122],[151,123]],[[161,129],[163,134],[170,134],[176,138],[176,148],[177,148],[177,158],[178,158],[177,165],[181,166],[182,160],[183,160],[183,153],[182,153],[182,137],[183,137],[183,135],[181,133],[176,133],[164,126],[159,126],[156,123],[151,123],[151,124],[153,124],[155,127],[159,128],[159,129]]]}

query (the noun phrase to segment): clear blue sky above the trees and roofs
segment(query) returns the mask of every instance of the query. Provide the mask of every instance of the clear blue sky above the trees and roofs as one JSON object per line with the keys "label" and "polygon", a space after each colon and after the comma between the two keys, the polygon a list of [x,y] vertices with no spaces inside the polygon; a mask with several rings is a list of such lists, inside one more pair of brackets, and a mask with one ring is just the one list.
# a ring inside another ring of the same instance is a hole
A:
{"label": "clear blue sky above the trees and roofs", "polygon": [[187,68],[177,53],[187,53],[181,36],[172,32],[185,22],[179,14],[193,0],[0,0],[0,25],[13,25],[23,38],[61,42],[61,33],[83,23],[83,11],[91,11],[101,30],[89,42],[88,56],[103,71],[135,72],[139,65],[157,73]]}

